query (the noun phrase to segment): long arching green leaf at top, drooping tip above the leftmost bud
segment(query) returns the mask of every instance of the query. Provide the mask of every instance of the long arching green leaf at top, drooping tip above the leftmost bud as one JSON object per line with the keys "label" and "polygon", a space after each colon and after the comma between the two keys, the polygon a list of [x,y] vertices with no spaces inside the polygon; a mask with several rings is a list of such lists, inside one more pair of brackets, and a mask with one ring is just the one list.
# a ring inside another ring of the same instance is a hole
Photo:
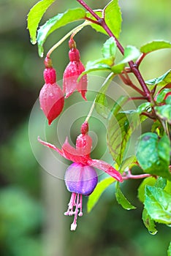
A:
{"label": "long arching green leaf at top, drooping tip above the leftmost bud", "polygon": [[76,20],[81,20],[86,17],[86,11],[82,8],[76,8],[72,10],[66,10],[64,13],[58,13],[53,18],[47,20],[47,22],[41,26],[37,33],[37,42],[39,48],[39,56],[43,56],[43,44],[47,37],[56,29],[67,25]]}

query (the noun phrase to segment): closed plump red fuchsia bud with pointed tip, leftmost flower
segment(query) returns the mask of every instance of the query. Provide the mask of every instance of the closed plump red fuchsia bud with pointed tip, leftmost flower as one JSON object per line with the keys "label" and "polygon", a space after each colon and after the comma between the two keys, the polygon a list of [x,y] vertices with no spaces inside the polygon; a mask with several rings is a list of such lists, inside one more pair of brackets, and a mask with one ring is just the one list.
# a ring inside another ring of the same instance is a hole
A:
{"label": "closed plump red fuchsia bud with pointed tip, leftmost flower", "polygon": [[64,94],[56,83],[56,70],[52,67],[51,59],[45,59],[45,85],[39,93],[40,108],[45,113],[50,125],[60,115],[64,108]]}

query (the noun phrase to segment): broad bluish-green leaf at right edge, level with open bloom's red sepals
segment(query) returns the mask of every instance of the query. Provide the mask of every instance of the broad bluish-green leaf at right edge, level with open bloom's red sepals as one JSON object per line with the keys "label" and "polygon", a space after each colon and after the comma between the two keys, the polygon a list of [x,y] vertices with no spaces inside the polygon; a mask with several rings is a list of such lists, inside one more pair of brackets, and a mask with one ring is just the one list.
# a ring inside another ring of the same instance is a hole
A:
{"label": "broad bluish-green leaf at right edge, level with open bloom's red sepals", "polygon": [[137,162],[145,173],[161,176],[171,180],[170,140],[167,135],[161,139],[155,133],[147,132],[140,136],[137,144]]}

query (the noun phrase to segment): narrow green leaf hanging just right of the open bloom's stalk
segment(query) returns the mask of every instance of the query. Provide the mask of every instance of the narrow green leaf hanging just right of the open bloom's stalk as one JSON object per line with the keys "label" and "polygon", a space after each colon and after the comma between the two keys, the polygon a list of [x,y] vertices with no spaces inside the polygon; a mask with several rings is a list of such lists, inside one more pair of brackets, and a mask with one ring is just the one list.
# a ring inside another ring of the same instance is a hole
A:
{"label": "narrow green leaf hanging just right of the open bloom's stalk", "polygon": [[104,81],[102,88],[99,90],[99,93],[96,95],[95,99],[95,108],[96,112],[99,113],[104,118],[107,118],[110,113],[110,106],[108,105],[107,102],[107,96],[106,96],[106,91],[108,87],[110,86],[111,80],[113,80],[113,73],[111,73],[107,79]]}

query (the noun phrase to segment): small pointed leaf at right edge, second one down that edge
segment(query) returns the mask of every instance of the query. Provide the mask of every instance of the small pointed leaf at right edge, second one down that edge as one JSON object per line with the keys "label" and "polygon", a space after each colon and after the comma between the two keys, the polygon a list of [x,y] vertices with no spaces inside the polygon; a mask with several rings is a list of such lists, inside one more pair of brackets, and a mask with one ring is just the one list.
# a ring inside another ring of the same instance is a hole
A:
{"label": "small pointed leaf at right edge, second one down that edge", "polygon": [[159,78],[153,78],[145,81],[145,83],[149,86],[166,86],[168,83],[171,83],[171,69],[164,73],[164,75],[161,75]]}

